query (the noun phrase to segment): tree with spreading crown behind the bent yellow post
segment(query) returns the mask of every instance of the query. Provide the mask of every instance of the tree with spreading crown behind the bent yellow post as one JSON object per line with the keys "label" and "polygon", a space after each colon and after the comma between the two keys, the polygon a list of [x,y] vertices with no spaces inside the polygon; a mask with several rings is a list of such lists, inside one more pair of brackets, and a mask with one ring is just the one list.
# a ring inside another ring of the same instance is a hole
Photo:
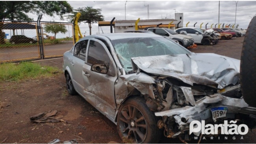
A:
{"label": "tree with spreading crown behind the bent yellow post", "polygon": [[78,22],[88,23],[90,35],[91,24],[96,23],[98,21],[104,21],[104,16],[101,14],[101,9],[94,9],[93,7],[79,7],[78,9],[74,10],[72,15],[69,15],[69,18],[74,18],[78,12],[81,13]]}

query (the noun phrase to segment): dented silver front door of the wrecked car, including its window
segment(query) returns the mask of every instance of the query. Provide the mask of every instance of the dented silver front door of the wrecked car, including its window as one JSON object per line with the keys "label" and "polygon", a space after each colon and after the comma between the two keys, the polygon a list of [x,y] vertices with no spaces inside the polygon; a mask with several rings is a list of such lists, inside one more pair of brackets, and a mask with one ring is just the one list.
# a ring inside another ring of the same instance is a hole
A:
{"label": "dented silver front door of the wrecked car, including its window", "polygon": [[[117,69],[107,47],[108,45],[98,39],[89,39],[86,61],[83,65],[83,93],[89,103],[114,121],[116,110],[114,86]],[[91,68],[95,64],[106,65],[108,72],[102,74],[93,71]]]}

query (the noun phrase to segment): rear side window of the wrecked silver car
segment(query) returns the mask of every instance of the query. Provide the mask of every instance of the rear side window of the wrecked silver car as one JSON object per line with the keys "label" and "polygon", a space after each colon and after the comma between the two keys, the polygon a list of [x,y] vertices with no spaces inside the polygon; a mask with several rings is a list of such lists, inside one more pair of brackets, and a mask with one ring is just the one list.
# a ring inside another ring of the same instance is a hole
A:
{"label": "rear side window of the wrecked silver car", "polygon": [[76,44],[76,47],[74,49],[74,56],[82,59],[83,61],[85,61],[87,43],[88,43],[88,40],[80,41],[79,43]]}

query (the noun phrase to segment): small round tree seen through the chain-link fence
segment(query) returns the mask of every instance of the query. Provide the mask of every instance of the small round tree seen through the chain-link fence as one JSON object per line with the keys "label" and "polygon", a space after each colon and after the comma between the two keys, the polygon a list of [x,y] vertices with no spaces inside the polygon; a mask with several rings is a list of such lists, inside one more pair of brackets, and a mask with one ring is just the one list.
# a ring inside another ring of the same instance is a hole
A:
{"label": "small round tree seen through the chain-link fence", "polygon": [[54,38],[56,38],[56,34],[59,32],[63,34],[67,32],[65,25],[61,25],[61,24],[46,24],[44,29],[48,33],[49,32],[54,33]]}

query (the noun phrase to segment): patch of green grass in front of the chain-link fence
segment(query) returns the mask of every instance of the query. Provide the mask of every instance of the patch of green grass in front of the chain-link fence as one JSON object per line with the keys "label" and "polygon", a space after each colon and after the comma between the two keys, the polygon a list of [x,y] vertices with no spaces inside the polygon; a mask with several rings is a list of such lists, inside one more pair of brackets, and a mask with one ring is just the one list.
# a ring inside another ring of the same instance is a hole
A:
{"label": "patch of green grass in front of the chain-link fence", "polygon": [[61,70],[56,67],[44,66],[42,68],[38,63],[32,62],[0,64],[0,82],[52,77],[58,73],[61,73]]}

